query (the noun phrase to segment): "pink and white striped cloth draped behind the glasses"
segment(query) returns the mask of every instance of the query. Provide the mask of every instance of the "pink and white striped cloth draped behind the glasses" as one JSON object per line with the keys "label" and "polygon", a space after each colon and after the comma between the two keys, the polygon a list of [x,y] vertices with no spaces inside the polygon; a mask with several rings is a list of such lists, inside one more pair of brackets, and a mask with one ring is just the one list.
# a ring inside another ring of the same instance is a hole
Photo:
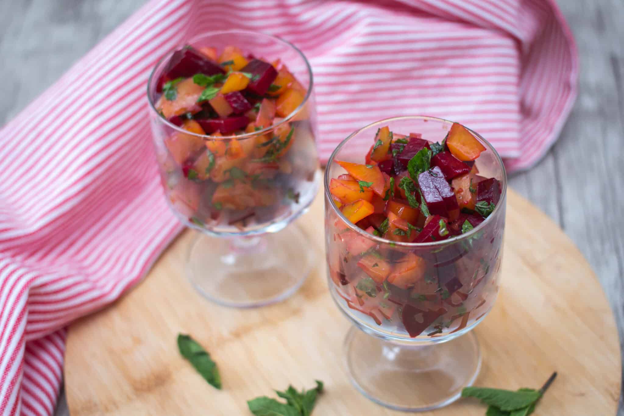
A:
{"label": "pink and white striped cloth draped behind the glasses", "polygon": [[148,2],[0,132],[0,414],[53,412],[67,324],[136,284],[180,231],[145,84],[168,49],[233,27],[308,56],[324,160],[358,127],[427,114],[529,168],[575,99],[577,52],[553,0]]}

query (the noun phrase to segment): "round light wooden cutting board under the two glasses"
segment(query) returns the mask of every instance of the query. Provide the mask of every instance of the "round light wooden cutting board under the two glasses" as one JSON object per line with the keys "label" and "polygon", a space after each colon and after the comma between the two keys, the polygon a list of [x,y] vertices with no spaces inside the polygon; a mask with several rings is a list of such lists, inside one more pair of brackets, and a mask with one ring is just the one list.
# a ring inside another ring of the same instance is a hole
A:
{"label": "round light wooden cutting board under the two glasses", "polygon": [[[476,385],[537,388],[557,380],[536,415],[614,415],[620,397],[620,345],[607,299],[570,239],[537,208],[509,191],[502,289],[475,329],[483,352]],[[298,224],[318,266],[290,299],[261,309],[212,304],[183,276],[183,233],[147,278],[112,306],[72,324],[65,382],[72,416],[250,415],[246,400],[273,389],[326,392],[315,416],[399,415],[364,398],[343,368],[349,322],[326,283],[323,195]],[[220,368],[223,390],[208,385],[177,351],[191,334]],[[423,415],[479,415],[475,400]]]}

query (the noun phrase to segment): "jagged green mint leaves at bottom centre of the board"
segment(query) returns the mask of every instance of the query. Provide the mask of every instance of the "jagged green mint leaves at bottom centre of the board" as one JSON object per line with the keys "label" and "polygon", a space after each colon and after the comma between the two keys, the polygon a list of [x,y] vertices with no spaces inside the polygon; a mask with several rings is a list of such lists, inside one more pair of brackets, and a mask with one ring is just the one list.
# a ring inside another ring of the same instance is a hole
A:
{"label": "jagged green mint leaves at bottom centre of the board", "polygon": [[262,396],[247,401],[247,406],[256,416],[310,416],[316,404],[316,398],[323,393],[323,382],[316,380],[316,387],[298,392],[289,385],[286,391],[275,390],[278,397],[286,399],[286,403]]}

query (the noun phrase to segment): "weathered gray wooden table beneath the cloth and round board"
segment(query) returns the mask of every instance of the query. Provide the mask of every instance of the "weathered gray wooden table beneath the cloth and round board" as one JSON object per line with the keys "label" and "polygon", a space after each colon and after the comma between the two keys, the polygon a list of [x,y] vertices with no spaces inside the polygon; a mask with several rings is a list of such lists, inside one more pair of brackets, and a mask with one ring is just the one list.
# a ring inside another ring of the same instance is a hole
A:
{"label": "weathered gray wooden table beneath the cloth and round board", "polygon": [[[144,0],[0,0],[0,125]],[[581,57],[577,103],[542,162],[511,178],[575,241],[624,333],[624,1],[559,0]],[[565,278],[565,276],[562,276]],[[61,394],[56,414],[67,415]],[[624,415],[620,398],[620,415]]]}

